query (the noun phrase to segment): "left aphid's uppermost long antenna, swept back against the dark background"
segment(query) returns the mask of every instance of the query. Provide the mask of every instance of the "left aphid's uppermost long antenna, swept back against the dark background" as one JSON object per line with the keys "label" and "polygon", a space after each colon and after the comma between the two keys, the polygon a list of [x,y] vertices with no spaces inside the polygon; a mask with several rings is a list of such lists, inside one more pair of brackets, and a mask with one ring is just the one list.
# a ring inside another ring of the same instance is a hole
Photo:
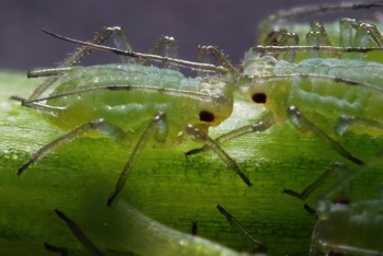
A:
{"label": "left aphid's uppermost long antenna, swept back against the dark background", "polygon": [[77,45],[88,46],[88,47],[91,47],[91,48],[97,49],[97,50],[114,53],[114,54],[119,55],[119,56],[128,56],[131,58],[137,58],[137,59],[141,59],[141,60],[151,60],[151,61],[156,61],[156,62],[161,62],[161,63],[171,62],[171,63],[177,65],[181,68],[189,68],[192,70],[201,71],[201,72],[219,72],[219,73],[228,73],[229,72],[229,70],[222,66],[194,62],[194,61],[175,59],[175,58],[170,58],[170,57],[164,57],[164,56],[159,56],[159,55],[150,55],[150,54],[141,54],[141,53],[136,53],[136,51],[121,50],[121,49],[118,49],[115,47],[97,45],[97,44],[92,44],[89,42],[69,38],[66,36],[55,34],[55,33],[47,31],[45,28],[42,28],[42,31],[47,33],[48,35],[51,35],[51,36],[59,38],[61,40],[70,42],[70,43],[73,43]]}

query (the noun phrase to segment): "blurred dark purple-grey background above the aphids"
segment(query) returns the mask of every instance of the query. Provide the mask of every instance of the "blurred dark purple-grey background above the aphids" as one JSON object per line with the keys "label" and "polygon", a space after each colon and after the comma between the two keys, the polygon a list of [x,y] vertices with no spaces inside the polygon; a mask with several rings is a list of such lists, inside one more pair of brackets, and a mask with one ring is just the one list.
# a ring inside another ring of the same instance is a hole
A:
{"label": "blurred dark purple-grey background above the aphids", "polygon": [[119,25],[137,51],[161,35],[174,36],[179,57],[196,59],[198,45],[217,45],[233,62],[255,44],[260,19],[280,9],[328,0],[1,0],[0,69],[30,70],[60,62],[73,45],[40,27],[90,39],[103,26]]}

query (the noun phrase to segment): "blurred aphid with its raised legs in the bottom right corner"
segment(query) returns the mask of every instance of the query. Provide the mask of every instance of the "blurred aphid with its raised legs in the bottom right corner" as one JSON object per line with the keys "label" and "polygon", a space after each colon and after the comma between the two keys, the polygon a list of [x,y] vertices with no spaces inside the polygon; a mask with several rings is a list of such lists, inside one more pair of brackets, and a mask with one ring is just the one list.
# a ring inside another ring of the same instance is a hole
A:
{"label": "blurred aphid with its raised legs in the bottom right corner", "polygon": [[349,170],[345,164],[334,163],[302,193],[289,190],[288,194],[304,200],[323,184],[329,173],[334,171],[346,173],[341,179],[317,199],[315,211],[317,220],[312,237],[311,255],[314,255],[315,248],[325,253],[351,255],[381,255],[383,253],[382,198],[379,200],[349,202],[347,198],[339,197],[333,203],[327,199],[344,185],[348,184],[362,170],[381,158],[382,153],[379,153],[365,165],[353,170]]}

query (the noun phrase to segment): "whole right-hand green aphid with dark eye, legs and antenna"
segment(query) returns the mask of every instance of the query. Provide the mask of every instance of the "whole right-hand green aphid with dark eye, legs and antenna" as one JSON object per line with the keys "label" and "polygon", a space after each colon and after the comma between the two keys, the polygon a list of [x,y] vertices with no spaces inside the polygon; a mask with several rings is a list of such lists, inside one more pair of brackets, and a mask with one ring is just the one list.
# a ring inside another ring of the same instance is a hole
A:
{"label": "whole right-hand green aphid with dark eye, legs and antenna", "polygon": [[[382,5],[382,4],[380,4]],[[360,42],[371,37],[364,33]],[[380,36],[381,37],[381,36]],[[290,120],[303,133],[324,140],[341,156],[363,164],[337,140],[347,131],[381,136],[383,127],[383,65],[360,59],[309,58],[297,63],[278,60],[269,53],[368,53],[381,46],[256,46],[244,58],[237,89],[268,113],[252,126],[233,130],[217,142],[264,131]],[[228,67],[229,65],[223,65]],[[207,149],[197,149],[188,154]]]}

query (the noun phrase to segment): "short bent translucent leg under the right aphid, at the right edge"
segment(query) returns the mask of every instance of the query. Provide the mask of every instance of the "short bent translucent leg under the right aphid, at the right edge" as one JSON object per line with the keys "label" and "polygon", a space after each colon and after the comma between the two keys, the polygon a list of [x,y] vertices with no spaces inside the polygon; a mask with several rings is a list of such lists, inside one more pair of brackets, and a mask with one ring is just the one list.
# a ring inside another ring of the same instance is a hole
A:
{"label": "short bent translucent leg under the right aphid, at the right edge", "polygon": [[340,116],[335,124],[335,131],[343,136],[350,127],[364,127],[368,129],[375,129],[383,131],[383,123],[376,120],[370,120],[357,116]]}

